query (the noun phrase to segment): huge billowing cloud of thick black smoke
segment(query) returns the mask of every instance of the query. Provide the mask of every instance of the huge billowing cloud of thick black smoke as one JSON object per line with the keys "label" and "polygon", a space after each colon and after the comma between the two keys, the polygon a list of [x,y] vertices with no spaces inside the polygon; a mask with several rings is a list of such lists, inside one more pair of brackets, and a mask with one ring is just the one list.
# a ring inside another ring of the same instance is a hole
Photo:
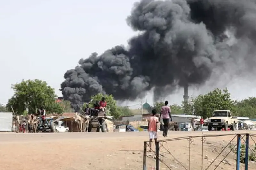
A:
{"label": "huge billowing cloud of thick black smoke", "polygon": [[93,53],[65,73],[60,90],[74,107],[98,92],[134,100],[154,90],[157,100],[177,86],[204,84],[214,70],[241,73],[255,64],[254,1],[142,0],[127,24],[140,31],[127,49]]}

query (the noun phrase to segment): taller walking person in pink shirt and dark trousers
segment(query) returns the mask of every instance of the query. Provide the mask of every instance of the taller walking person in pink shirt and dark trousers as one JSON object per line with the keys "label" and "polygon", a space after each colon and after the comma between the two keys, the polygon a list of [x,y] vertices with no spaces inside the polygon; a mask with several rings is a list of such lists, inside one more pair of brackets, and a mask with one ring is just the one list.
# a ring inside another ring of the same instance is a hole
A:
{"label": "taller walking person in pink shirt and dark trousers", "polygon": [[170,118],[171,118],[171,121],[172,121],[171,108],[168,106],[168,101],[165,101],[164,106],[161,108],[161,113],[160,113],[160,116],[159,116],[159,120],[161,120],[161,115],[163,115],[163,122],[164,122],[163,136],[167,137]]}

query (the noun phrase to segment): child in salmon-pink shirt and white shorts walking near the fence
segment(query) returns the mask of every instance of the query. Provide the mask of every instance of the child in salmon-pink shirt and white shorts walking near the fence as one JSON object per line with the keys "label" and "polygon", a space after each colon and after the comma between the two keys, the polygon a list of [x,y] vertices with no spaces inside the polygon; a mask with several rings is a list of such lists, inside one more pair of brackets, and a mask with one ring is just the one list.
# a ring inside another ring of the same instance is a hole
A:
{"label": "child in salmon-pink shirt and white shorts walking near the fence", "polygon": [[156,117],[156,109],[152,110],[152,115],[150,116],[148,120],[148,132],[149,132],[149,152],[152,151],[151,149],[151,143],[153,138],[155,139],[155,143],[157,141],[157,123],[158,123],[158,117]]}

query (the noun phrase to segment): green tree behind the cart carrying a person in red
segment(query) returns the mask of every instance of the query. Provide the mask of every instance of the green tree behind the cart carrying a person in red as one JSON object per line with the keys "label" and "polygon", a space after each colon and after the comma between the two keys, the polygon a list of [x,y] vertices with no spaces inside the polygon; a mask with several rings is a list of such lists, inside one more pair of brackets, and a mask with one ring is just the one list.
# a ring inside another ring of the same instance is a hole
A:
{"label": "green tree behind the cart carrying a person in red", "polygon": [[[107,101],[107,110],[108,115],[114,116],[114,118],[119,118],[121,115],[121,109],[117,107],[116,100],[112,95],[98,93],[91,97],[92,101],[89,104],[89,107],[93,107],[93,104],[96,100],[100,101],[102,97],[105,97],[105,101]],[[86,103],[83,105],[83,109],[86,107]]]}

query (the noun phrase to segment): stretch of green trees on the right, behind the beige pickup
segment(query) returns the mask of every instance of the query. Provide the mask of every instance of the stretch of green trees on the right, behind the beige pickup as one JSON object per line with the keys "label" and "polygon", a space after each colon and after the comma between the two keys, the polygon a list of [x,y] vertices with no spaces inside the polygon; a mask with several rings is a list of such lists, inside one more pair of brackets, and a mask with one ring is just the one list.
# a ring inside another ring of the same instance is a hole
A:
{"label": "stretch of green trees on the right, behind the beige pickup", "polygon": [[[156,102],[154,107],[160,113],[164,102]],[[182,105],[171,105],[172,114],[198,115],[204,119],[212,116],[214,110],[230,110],[233,116],[256,118],[256,98],[237,101],[230,98],[228,89],[223,90],[216,88],[206,94],[200,94],[196,97],[190,97]]]}

